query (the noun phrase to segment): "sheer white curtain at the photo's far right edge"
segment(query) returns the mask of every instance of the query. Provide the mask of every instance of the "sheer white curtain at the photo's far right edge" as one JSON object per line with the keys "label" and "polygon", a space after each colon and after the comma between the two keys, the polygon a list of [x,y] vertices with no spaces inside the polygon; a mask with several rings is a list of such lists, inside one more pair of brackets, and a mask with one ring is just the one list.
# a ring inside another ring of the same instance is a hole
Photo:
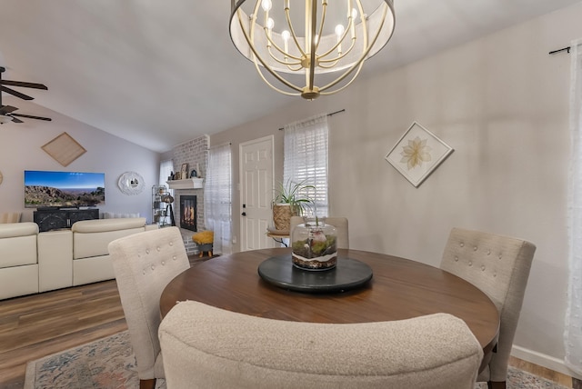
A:
{"label": "sheer white curtain at the photo's far right edge", "polygon": [[565,362],[582,374],[582,39],[571,45],[570,130],[572,165],[569,196],[569,282],[567,291]]}

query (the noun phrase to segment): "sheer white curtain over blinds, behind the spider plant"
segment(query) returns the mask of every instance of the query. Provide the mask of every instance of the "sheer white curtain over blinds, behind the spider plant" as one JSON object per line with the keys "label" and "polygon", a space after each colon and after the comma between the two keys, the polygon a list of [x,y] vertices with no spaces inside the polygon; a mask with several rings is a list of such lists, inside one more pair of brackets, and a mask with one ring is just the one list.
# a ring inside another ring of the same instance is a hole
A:
{"label": "sheer white curtain over blinds, behind the spider plant", "polygon": [[316,201],[317,216],[327,216],[327,115],[316,115],[285,126],[285,159],[283,183],[289,180],[314,185],[316,191],[307,193]]}

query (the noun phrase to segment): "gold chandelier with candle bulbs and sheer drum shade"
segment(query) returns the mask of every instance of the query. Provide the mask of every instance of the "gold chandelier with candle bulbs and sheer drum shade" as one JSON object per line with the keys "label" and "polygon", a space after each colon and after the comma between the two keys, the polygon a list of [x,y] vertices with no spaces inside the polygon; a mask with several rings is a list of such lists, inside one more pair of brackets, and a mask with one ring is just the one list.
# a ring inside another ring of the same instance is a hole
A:
{"label": "gold chandelier with candle bulbs and sheer drum shade", "polygon": [[231,0],[231,39],[277,92],[308,100],[335,94],[386,45],[395,14],[393,0],[327,3]]}

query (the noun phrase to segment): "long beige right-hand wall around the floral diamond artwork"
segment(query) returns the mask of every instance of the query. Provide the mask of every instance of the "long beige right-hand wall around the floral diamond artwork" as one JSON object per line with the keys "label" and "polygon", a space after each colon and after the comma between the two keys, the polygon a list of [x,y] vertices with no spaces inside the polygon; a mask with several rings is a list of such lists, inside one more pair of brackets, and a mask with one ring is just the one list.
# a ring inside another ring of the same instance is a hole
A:
{"label": "long beige right-hand wall around the floral diamond artwork", "polygon": [[[274,134],[280,178],[277,128],[345,108],[330,118],[329,186],[331,214],[349,218],[350,246],[438,265],[453,226],[537,244],[515,353],[567,372],[570,58],[548,52],[582,37],[580,20],[582,3],[361,78],[338,95],[290,98],[284,111],[211,135],[211,145],[232,142],[238,184],[238,145]],[[384,160],[414,121],[455,149],[418,188]],[[237,193],[234,204],[238,235]]]}

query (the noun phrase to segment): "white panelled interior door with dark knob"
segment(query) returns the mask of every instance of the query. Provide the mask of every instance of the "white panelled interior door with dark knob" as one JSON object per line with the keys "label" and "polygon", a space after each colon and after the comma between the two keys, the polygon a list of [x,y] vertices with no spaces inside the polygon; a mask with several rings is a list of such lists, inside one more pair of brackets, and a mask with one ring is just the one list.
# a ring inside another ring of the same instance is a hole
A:
{"label": "white panelled interior door with dark knob", "polygon": [[241,251],[275,246],[266,236],[273,219],[273,145],[273,135],[240,145]]}

